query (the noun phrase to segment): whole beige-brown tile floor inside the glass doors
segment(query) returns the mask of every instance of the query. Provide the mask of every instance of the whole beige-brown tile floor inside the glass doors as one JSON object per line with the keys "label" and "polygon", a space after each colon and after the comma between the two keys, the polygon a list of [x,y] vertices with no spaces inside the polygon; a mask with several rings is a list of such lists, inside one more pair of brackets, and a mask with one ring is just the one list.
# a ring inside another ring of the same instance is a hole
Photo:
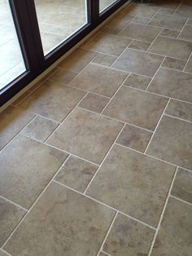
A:
{"label": "whole beige-brown tile floor inside the glass doors", "polygon": [[192,3],[135,2],[0,114],[0,255],[192,254]]}

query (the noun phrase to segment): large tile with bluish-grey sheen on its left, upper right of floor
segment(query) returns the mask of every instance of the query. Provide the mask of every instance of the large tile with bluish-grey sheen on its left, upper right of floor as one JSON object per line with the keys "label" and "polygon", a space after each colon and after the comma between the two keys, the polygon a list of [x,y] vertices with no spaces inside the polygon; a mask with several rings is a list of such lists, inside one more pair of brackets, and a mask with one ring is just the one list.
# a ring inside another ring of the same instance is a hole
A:
{"label": "large tile with bluish-grey sheen on its left, upper right of floor", "polygon": [[[163,60],[163,56],[126,49],[114,64],[112,64],[112,67],[147,77],[153,77]],[[145,65],[143,63],[145,63]]]}

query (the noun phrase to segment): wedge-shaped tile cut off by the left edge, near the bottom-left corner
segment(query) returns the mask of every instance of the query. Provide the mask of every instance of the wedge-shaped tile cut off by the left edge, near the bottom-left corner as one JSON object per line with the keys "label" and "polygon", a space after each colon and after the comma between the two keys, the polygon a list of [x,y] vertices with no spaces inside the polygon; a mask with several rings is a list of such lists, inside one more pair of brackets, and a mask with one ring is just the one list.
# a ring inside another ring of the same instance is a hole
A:
{"label": "wedge-shaped tile cut off by the left edge, near the bottom-left corner", "polygon": [[16,225],[20,223],[25,213],[25,210],[11,204],[0,196],[0,246],[7,240]]}

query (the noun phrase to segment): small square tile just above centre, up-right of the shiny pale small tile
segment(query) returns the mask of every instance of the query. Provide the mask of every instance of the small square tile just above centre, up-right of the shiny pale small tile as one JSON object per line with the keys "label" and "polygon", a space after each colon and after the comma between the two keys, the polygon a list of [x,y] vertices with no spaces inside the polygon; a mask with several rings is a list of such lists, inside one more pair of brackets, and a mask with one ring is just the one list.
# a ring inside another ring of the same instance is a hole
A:
{"label": "small square tile just above centre, up-right of the shiny pale small tile", "polygon": [[103,108],[107,105],[109,99],[103,96],[89,93],[79,104],[79,107],[91,110],[95,113],[101,113]]}

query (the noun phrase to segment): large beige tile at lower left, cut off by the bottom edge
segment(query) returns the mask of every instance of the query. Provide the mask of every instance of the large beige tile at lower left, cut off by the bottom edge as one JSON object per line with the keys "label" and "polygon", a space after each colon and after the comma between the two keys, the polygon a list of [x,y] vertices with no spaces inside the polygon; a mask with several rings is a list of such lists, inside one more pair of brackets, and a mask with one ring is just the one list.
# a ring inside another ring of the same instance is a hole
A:
{"label": "large beige tile at lower left, cut off by the bottom edge", "polygon": [[51,183],[5,249],[14,255],[96,255],[114,214],[85,196]]}

